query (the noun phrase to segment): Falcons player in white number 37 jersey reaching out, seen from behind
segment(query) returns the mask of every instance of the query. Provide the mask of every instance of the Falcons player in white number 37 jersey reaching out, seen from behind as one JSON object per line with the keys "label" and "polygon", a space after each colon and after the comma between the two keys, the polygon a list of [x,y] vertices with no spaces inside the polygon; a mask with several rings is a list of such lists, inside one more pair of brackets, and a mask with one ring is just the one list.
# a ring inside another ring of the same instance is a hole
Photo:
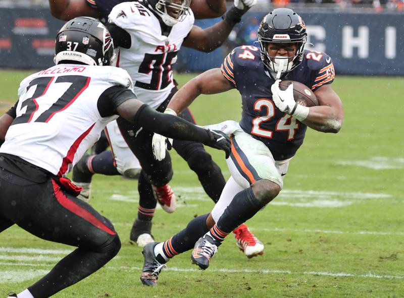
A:
{"label": "Falcons player in white number 37 jersey reaching out, seen from behind", "polygon": [[[0,232],[14,224],[41,239],[77,247],[48,274],[10,297],[43,298],[103,267],[120,250],[111,221],[76,198],[65,175],[118,116],[172,138],[230,154],[221,132],[157,112],[136,99],[128,73],[112,67],[107,28],[89,17],[66,23],[56,38],[56,66],[25,78],[19,100],[0,117]],[[83,266],[83,264],[86,264]]]}

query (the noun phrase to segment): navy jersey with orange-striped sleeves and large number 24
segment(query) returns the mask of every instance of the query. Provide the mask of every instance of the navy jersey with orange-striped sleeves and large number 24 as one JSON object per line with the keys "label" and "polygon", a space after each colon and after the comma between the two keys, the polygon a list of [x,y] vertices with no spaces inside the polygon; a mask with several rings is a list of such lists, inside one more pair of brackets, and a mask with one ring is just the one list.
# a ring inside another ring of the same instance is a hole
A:
{"label": "navy jersey with orange-striped sleeves and large number 24", "polygon": [[[265,70],[260,55],[256,46],[236,47],[225,57],[221,70],[241,94],[241,128],[266,144],[275,160],[284,160],[303,143],[307,126],[279,110],[272,101],[275,80]],[[331,84],[334,78],[334,66],[326,53],[305,50],[301,64],[282,80],[297,81],[315,91]]]}

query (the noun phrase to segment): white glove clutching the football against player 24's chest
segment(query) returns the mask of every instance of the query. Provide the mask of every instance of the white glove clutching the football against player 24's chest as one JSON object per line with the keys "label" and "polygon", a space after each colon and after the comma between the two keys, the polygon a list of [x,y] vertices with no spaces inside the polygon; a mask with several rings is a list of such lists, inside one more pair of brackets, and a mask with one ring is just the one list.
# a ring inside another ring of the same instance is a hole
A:
{"label": "white glove clutching the football against player 24's chest", "polygon": [[285,91],[279,89],[281,80],[276,80],[271,86],[272,100],[278,109],[295,117],[298,121],[304,121],[309,115],[309,108],[294,101],[293,83]]}

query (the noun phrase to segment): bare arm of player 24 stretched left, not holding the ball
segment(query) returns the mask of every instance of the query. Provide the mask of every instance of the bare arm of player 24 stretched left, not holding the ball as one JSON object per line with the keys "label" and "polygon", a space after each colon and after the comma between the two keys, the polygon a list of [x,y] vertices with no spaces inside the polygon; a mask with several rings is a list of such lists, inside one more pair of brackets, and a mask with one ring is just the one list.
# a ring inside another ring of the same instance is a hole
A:
{"label": "bare arm of player 24 stretched left, not holding the ball", "polygon": [[233,88],[219,68],[211,69],[182,86],[171,98],[167,108],[174,110],[178,115],[200,94],[222,93]]}

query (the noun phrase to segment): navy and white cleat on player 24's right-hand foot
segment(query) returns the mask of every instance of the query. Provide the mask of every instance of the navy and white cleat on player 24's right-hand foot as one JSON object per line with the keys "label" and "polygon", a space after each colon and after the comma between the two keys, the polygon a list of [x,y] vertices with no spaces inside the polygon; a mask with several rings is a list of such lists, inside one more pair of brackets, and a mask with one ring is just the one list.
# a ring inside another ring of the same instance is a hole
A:
{"label": "navy and white cleat on player 24's right-hand foot", "polygon": [[221,243],[205,234],[195,243],[191,254],[192,264],[198,265],[199,269],[205,270],[209,267],[212,257],[218,252]]}

